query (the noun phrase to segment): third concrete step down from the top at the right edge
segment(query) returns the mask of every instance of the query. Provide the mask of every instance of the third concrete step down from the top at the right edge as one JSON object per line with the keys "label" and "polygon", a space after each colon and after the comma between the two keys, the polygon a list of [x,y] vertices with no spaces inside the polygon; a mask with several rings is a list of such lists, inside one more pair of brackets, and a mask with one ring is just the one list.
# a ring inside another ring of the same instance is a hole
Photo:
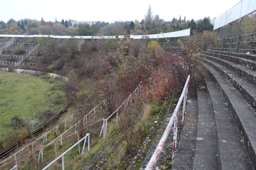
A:
{"label": "third concrete step down from the top at the right edge", "polygon": [[247,79],[248,81],[256,85],[256,71],[246,68],[242,65],[236,64],[235,62],[228,61],[226,59],[212,57],[205,54],[202,54],[202,55],[206,57],[206,59],[210,59],[214,62],[218,62],[219,64],[224,65],[225,67],[234,71],[239,76],[243,77],[244,79]]}

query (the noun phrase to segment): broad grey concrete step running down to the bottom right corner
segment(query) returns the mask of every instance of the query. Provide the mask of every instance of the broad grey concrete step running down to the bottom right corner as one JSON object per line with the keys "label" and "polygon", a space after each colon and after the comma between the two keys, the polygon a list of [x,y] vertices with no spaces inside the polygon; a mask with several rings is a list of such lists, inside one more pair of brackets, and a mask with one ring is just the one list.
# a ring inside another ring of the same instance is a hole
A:
{"label": "broad grey concrete step running down to the bottom right corner", "polygon": [[218,135],[218,158],[221,170],[252,170],[241,135],[229,108],[211,79],[205,77],[206,87],[215,115]]}

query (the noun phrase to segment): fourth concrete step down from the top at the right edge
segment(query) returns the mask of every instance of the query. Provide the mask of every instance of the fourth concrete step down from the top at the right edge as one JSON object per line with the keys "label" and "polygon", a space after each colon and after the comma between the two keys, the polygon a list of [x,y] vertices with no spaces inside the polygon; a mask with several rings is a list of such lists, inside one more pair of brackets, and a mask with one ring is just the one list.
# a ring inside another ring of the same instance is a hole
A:
{"label": "fourth concrete step down from the top at the right edge", "polygon": [[209,59],[204,59],[204,61],[214,68],[216,71],[221,73],[223,77],[241,94],[241,96],[246,99],[246,101],[253,107],[256,108],[256,86],[241,78],[238,74],[234,73],[230,69],[217,62],[211,61]]}

